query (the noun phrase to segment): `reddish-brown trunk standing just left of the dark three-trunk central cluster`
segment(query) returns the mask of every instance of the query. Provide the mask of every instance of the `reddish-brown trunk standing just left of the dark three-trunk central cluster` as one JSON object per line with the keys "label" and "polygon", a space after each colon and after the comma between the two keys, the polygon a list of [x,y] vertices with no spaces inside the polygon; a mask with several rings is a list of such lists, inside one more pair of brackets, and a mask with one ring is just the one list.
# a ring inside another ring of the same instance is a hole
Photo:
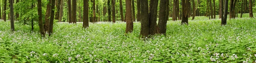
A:
{"label": "reddish-brown trunk standing just left of the dark three-trunk central cluster", "polygon": [[133,31],[133,22],[132,22],[132,13],[131,13],[131,0],[125,0],[126,4],[126,14],[125,14],[125,21],[126,21],[126,29],[125,33],[131,33]]}

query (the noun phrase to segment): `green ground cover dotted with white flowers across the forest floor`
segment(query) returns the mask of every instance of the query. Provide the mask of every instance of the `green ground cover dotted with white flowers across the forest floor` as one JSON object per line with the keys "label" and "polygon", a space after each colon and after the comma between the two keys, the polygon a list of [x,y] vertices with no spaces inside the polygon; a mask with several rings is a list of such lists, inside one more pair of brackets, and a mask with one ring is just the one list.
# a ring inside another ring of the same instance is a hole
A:
{"label": "green ground cover dotted with white flowers across the forest floor", "polygon": [[90,23],[87,29],[61,22],[54,24],[51,37],[41,38],[38,26],[31,32],[29,25],[15,24],[12,32],[9,21],[0,21],[0,63],[255,63],[256,19],[220,24],[204,16],[189,25],[168,21],[166,36],[144,41],[139,22],[126,36],[125,22]]}

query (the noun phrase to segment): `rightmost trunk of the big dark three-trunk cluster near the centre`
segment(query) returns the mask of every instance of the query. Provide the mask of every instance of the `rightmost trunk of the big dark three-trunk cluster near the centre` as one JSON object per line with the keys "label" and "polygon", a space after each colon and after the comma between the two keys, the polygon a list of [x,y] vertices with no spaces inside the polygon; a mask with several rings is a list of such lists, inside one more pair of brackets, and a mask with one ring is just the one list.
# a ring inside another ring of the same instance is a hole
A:
{"label": "rightmost trunk of the big dark three-trunk cluster near the centre", "polygon": [[157,31],[159,34],[166,34],[166,23],[167,23],[166,7],[168,7],[168,3],[169,3],[168,0],[160,0],[159,21],[157,25]]}

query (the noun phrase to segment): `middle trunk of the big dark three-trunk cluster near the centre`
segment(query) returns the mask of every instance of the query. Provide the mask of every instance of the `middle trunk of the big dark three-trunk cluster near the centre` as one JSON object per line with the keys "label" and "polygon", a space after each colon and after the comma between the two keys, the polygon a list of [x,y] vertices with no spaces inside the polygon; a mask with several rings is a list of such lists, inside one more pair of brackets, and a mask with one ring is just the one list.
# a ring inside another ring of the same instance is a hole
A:
{"label": "middle trunk of the big dark three-trunk cluster near the centre", "polygon": [[150,0],[149,35],[155,35],[157,33],[157,6],[158,0]]}

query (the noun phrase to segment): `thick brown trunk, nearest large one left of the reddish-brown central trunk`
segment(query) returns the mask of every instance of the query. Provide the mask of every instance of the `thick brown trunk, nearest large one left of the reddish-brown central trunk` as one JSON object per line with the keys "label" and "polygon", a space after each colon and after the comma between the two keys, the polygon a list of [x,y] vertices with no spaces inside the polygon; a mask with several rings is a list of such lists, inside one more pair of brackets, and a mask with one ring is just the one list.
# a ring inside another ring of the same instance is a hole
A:
{"label": "thick brown trunk, nearest large one left of the reddish-brown central trunk", "polygon": [[89,4],[88,0],[84,0],[84,16],[83,16],[83,27],[89,27]]}

